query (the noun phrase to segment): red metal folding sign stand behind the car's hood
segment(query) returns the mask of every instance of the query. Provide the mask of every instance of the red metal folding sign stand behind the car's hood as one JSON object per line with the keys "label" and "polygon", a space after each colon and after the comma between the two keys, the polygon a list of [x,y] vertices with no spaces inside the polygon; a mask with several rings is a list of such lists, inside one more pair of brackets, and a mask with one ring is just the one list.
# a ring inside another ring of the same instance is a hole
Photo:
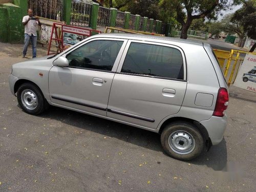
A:
{"label": "red metal folding sign stand behind the car's hood", "polygon": [[[61,33],[59,34],[57,29],[60,29],[60,27],[61,27]],[[69,38],[68,40],[67,40],[67,37],[65,39],[65,37],[63,37],[64,34],[75,34],[75,35],[89,37],[92,35],[92,33],[99,34],[100,31],[89,29],[89,28],[81,28],[81,27],[74,27],[74,26],[69,26],[69,25],[65,25],[65,24],[53,23],[49,47],[48,47],[48,55],[61,53],[62,51],[67,49],[67,45],[70,46],[70,44],[74,45],[76,43],[76,42],[74,43],[73,39],[72,39],[72,41],[69,40],[70,39],[69,37],[68,37]],[[53,38],[53,34],[55,35],[55,38]],[[53,40],[56,43],[57,51],[54,53],[50,53],[50,49],[51,49]],[[71,41],[71,42],[66,44],[65,40]]]}

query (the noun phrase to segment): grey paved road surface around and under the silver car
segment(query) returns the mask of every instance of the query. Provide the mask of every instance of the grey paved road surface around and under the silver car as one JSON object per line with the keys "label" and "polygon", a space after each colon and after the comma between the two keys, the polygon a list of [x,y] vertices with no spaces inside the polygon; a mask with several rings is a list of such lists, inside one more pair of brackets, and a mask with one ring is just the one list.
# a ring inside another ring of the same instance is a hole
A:
{"label": "grey paved road surface around and under the silver car", "polygon": [[182,162],[155,133],[60,108],[24,113],[8,84],[21,51],[0,43],[0,191],[256,191],[254,93],[231,87],[224,139]]}

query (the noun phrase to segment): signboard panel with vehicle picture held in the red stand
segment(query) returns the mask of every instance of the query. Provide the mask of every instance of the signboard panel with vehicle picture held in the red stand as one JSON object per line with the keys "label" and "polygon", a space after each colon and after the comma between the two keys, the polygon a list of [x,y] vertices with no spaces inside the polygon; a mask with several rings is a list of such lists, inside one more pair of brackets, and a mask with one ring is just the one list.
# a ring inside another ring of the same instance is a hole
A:
{"label": "signboard panel with vehicle picture held in the red stand", "polygon": [[75,45],[77,42],[91,36],[91,29],[73,26],[62,26],[62,44],[65,49]]}

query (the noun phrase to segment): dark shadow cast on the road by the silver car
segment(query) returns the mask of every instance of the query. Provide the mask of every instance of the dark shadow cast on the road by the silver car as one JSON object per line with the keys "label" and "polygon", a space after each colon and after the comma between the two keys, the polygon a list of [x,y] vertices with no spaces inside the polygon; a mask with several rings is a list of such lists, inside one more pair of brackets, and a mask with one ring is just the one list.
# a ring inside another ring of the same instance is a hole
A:
{"label": "dark shadow cast on the road by the silver car", "polygon": [[[98,133],[103,136],[114,137],[140,147],[162,152],[165,156],[168,156],[162,149],[160,135],[154,132],[54,106],[51,106],[50,109],[44,114],[41,114],[40,117],[61,121],[67,125]],[[211,147],[209,152],[202,153],[198,158],[188,163],[207,165],[214,170],[223,170],[227,163],[225,139],[223,139],[220,144]]]}

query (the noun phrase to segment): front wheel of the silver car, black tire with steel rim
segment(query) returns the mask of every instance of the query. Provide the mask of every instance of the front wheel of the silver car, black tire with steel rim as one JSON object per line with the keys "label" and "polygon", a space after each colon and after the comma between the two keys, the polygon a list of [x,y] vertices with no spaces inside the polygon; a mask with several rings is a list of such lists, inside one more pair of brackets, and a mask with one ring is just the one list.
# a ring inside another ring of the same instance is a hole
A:
{"label": "front wheel of the silver car, black tire with steel rim", "polygon": [[45,100],[40,89],[33,83],[29,82],[23,83],[19,86],[17,91],[17,100],[23,111],[31,115],[39,115],[49,106],[49,103]]}

